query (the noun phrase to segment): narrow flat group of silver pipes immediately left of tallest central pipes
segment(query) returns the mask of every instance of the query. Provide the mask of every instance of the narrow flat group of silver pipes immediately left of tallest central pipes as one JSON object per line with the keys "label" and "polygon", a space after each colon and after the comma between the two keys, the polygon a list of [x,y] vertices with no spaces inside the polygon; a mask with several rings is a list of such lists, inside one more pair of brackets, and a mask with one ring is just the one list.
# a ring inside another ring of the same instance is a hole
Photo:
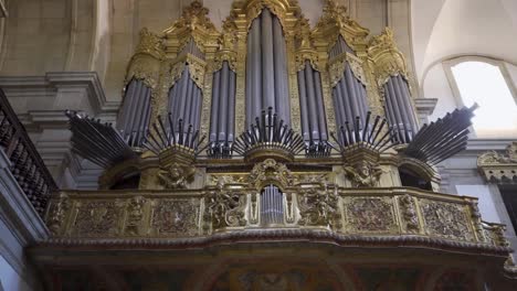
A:
{"label": "narrow flat group of silver pipes immediately left of tallest central pipes", "polygon": [[[228,62],[213,74],[210,142],[212,148],[230,148],[234,139],[235,72]],[[222,153],[222,152],[221,152]]]}

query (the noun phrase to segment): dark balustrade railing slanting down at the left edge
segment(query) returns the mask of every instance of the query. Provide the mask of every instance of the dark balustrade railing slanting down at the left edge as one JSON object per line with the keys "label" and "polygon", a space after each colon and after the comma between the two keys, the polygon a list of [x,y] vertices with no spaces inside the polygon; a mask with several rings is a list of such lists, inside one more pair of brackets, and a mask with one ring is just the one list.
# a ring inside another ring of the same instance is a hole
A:
{"label": "dark balustrade railing slanting down at the left edge", "polygon": [[12,175],[43,217],[50,194],[57,186],[1,89],[0,147],[11,161]]}

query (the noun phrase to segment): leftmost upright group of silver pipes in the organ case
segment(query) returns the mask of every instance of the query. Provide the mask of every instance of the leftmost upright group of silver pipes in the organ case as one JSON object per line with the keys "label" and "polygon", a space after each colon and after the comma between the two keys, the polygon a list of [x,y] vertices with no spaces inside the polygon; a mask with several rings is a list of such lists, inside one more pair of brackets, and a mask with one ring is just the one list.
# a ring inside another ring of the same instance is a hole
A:
{"label": "leftmost upright group of silver pipes in the organ case", "polygon": [[117,129],[131,147],[140,147],[149,128],[151,89],[140,79],[133,79],[126,87],[124,103],[117,120]]}

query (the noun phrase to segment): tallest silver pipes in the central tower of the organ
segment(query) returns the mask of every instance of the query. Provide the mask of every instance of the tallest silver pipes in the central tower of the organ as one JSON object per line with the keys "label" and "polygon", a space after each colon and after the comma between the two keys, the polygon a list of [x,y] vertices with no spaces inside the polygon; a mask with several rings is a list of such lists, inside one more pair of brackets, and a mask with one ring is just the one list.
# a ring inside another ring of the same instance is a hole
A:
{"label": "tallest silver pipes in the central tower of the organ", "polygon": [[247,33],[246,127],[273,108],[291,125],[286,44],[279,20],[268,9],[253,20]]}

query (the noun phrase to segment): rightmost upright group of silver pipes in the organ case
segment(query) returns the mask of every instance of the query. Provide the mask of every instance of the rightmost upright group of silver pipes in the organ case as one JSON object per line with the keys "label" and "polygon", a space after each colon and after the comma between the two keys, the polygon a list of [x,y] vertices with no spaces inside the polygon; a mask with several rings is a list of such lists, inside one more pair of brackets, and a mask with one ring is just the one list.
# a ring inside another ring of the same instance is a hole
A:
{"label": "rightmost upright group of silver pipes in the organ case", "polygon": [[418,131],[418,123],[408,82],[401,75],[391,76],[383,89],[386,116],[395,130],[393,139],[409,143]]}

